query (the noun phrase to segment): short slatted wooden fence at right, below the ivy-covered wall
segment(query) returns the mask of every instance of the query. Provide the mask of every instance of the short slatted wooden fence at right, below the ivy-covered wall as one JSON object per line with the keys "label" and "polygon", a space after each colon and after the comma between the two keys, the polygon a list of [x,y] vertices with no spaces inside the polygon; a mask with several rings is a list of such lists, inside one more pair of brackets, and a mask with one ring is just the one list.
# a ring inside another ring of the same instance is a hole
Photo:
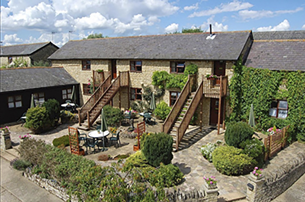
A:
{"label": "short slatted wooden fence at right, below the ivy-covered wall", "polygon": [[280,131],[268,136],[264,140],[266,147],[265,160],[276,155],[282,148],[287,144],[288,130],[289,125],[283,127]]}

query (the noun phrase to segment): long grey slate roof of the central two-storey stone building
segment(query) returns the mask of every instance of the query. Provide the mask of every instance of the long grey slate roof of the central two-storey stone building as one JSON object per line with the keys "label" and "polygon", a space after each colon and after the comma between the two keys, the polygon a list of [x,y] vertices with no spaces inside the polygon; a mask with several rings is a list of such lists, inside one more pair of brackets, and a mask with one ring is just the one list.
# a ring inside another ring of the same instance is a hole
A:
{"label": "long grey slate roof of the central two-storey stone building", "polygon": [[251,31],[181,33],[69,41],[49,59],[236,60]]}

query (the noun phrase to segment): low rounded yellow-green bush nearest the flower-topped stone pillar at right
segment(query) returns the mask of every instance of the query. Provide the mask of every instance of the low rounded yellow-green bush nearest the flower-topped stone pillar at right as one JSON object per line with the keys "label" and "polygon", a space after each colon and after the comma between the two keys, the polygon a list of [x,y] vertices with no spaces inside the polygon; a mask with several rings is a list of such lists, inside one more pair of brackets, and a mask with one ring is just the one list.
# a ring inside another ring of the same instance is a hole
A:
{"label": "low rounded yellow-green bush nearest the flower-topped stone pillar at right", "polygon": [[242,154],[242,150],[221,146],[212,153],[212,161],[216,169],[224,175],[242,175],[249,173],[252,169],[252,158]]}

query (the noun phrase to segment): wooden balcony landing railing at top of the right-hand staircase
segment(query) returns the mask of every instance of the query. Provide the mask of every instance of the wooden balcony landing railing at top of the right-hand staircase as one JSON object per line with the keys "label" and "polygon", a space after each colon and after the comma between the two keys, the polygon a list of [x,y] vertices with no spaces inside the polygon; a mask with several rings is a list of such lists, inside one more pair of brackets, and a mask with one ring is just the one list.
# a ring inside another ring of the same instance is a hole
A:
{"label": "wooden balcony landing railing at top of the right-hand staircase", "polygon": [[228,76],[206,78],[203,76],[203,94],[208,98],[219,98],[227,95]]}

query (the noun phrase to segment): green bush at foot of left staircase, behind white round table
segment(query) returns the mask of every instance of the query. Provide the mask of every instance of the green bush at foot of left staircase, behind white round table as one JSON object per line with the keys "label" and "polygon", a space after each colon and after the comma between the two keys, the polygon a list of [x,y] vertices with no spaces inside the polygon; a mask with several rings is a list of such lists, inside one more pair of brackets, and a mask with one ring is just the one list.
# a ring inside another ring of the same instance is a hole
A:
{"label": "green bush at foot of left staircase, behind white round table", "polygon": [[120,109],[113,108],[110,105],[106,105],[103,109],[107,125],[110,127],[119,127],[120,122],[125,118],[124,113]]}

